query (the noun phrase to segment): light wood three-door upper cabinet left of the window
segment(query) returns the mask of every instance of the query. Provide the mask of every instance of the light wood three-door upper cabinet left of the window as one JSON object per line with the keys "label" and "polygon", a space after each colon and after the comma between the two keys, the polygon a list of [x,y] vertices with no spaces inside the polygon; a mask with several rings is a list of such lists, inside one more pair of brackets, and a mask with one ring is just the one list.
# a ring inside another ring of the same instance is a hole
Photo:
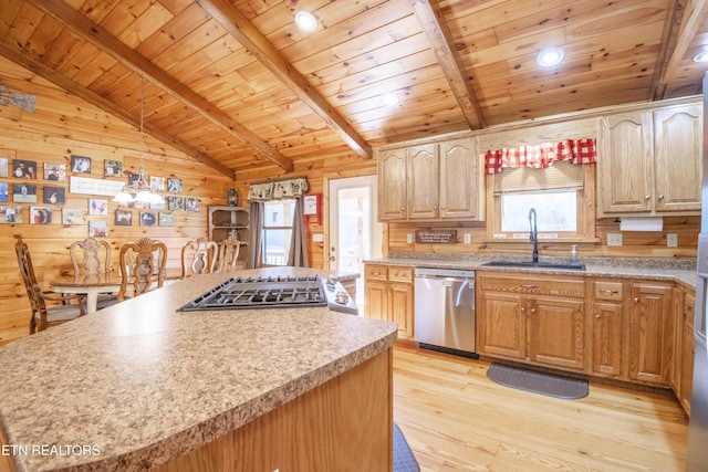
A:
{"label": "light wood three-door upper cabinet left of the window", "polygon": [[477,138],[377,150],[376,156],[381,221],[485,219]]}

